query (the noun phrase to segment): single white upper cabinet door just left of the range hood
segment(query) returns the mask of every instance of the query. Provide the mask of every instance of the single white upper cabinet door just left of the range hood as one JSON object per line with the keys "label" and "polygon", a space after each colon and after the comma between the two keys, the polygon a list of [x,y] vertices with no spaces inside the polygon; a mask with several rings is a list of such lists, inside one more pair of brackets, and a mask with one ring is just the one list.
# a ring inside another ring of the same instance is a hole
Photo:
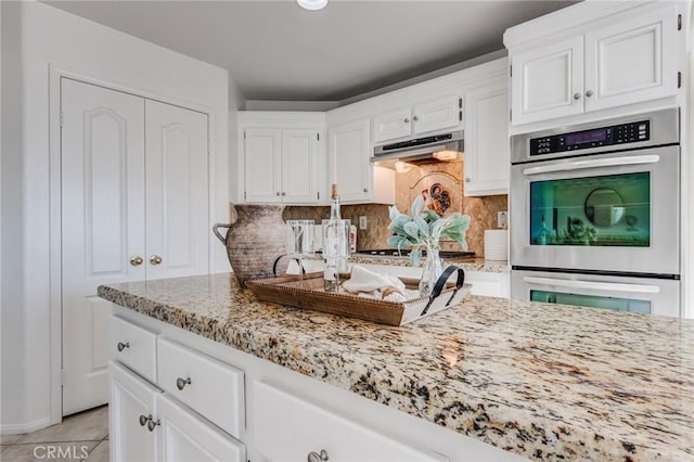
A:
{"label": "single white upper cabinet door just left of the range hood", "polygon": [[331,178],[339,187],[340,200],[371,200],[369,119],[332,127],[329,137]]}

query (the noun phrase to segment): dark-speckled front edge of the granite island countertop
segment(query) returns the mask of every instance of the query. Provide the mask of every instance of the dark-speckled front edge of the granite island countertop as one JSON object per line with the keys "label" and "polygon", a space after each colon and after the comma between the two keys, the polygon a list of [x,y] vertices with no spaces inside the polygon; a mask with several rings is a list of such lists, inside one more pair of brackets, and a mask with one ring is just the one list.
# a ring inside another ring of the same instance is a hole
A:
{"label": "dark-speckled front edge of the granite island countertop", "polygon": [[[428,377],[426,371],[421,371],[421,374],[406,371],[402,377],[393,380],[393,374],[384,371],[383,364],[374,363],[368,355],[358,351],[332,351],[321,348],[320,344],[307,344],[291,335],[250,329],[252,323],[235,325],[191,312],[176,304],[131,294],[127,288],[100,286],[98,293],[100,297],[133,311],[531,459],[630,460],[637,452],[632,442],[599,435],[590,428],[590,423],[567,422],[557,427],[556,419],[540,415],[541,412],[530,411],[522,405],[509,406],[507,402],[494,402],[484,396],[465,396],[464,401],[449,398],[446,389],[434,377]],[[501,300],[475,296],[468,296],[467,299],[479,303]],[[272,310],[292,310],[258,304]],[[326,315],[316,313],[319,324],[324,322],[320,321]],[[312,318],[308,319],[310,322]],[[619,432],[615,434],[619,435]],[[647,460],[663,457],[658,449],[647,446],[638,449],[639,455]],[[693,458],[687,452],[673,449],[666,459],[672,458],[672,454],[676,460]]]}

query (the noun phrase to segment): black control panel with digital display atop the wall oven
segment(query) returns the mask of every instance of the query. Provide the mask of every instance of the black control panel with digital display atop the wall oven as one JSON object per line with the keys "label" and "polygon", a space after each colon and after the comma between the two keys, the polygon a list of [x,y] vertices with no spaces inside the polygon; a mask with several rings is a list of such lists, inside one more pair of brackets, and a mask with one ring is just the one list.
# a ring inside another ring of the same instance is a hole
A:
{"label": "black control panel with digital display atop the wall oven", "polygon": [[641,120],[611,127],[530,139],[530,155],[578,151],[589,147],[629,144],[651,139],[651,121]]}

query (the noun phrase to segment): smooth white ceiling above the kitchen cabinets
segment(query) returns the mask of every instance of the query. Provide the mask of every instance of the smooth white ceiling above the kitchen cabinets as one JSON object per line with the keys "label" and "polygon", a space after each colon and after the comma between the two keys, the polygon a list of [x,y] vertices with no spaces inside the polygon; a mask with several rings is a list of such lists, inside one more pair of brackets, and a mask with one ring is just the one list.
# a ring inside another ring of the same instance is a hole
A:
{"label": "smooth white ceiling above the kitchen cabinets", "polygon": [[248,100],[340,101],[503,49],[573,1],[47,1],[229,70]]}

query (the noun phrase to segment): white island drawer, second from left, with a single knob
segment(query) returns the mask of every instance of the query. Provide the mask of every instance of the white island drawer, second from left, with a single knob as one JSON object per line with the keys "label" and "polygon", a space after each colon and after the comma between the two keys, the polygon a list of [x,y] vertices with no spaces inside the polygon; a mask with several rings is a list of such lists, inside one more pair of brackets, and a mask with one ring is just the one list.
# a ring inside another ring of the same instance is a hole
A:
{"label": "white island drawer, second from left, with a single knob", "polygon": [[243,372],[159,338],[158,384],[234,437],[243,428]]}

